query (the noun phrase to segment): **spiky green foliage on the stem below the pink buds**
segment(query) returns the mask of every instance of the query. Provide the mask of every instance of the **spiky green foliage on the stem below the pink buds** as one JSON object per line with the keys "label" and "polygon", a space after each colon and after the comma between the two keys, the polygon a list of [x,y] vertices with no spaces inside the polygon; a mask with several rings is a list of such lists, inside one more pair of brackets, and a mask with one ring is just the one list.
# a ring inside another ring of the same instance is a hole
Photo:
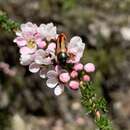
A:
{"label": "spiky green foliage on the stem below the pink buds", "polygon": [[99,130],[112,130],[111,122],[105,116],[107,103],[104,98],[97,98],[95,88],[92,83],[81,85],[81,103],[85,110],[92,115]]}

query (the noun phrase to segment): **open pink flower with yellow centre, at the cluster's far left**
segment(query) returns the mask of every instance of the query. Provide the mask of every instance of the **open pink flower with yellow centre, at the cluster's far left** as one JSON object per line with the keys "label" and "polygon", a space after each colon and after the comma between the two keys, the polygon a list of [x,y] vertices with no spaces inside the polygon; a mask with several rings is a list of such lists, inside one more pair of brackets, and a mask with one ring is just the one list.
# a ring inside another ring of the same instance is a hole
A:
{"label": "open pink flower with yellow centre, at the cluster's far left", "polygon": [[21,30],[16,32],[17,37],[14,42],[20,47],[21,54],[32,54],[37,48],[44,48],[46,42],[43,41],[38,33],[36,24],[28,22],[21,25]]}

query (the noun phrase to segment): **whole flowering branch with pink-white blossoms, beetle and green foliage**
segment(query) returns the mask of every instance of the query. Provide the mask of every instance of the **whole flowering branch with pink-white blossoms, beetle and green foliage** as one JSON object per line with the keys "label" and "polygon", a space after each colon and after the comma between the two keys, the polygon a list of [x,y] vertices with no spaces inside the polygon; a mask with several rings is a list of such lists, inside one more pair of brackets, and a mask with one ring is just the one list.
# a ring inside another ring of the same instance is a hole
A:
{"label": "whole flowering branch with pink-white blossoms, beetle and green foliage", "polygon": [[3,12],[0,12],[0,27],[5,31],[16,32],[14,43],[20,49],[22,65],[28,65],[30,72],[39,72],[41,78],[47,79],[46,85],[57,96],[63,93],[65,87],[80,89],[81,102],[95,119],[99,130],[112,130],[111,122],[104,114],[107,112],[106,101],[104,98],[97,98],[95,88],[90,83],[95,66],[80,62],[85,43],[79,36],[66,42],[66,36],[58,34],[53,23],[37,26],[28,22],[19,25]]}

